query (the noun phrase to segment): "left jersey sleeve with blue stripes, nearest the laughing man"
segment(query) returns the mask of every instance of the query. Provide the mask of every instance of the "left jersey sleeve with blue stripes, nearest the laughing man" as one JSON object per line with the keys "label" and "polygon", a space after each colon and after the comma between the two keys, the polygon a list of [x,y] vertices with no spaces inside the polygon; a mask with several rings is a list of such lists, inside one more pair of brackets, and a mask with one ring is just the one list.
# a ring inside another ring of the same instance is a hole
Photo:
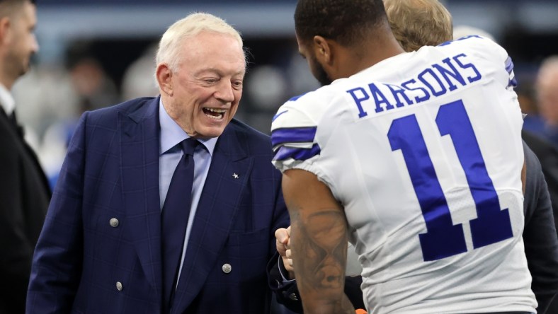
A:
{"label": "left jersey sleeve with blue stripes, nearest the laughing man", "polygon": [[292,98],[273,117],[271,142],[275,156],[272,162],[281,172],[298,168],[320,176],[315,163],[321,152],[316,136],[321,110],[312,109],[311,99],[308,94]]}

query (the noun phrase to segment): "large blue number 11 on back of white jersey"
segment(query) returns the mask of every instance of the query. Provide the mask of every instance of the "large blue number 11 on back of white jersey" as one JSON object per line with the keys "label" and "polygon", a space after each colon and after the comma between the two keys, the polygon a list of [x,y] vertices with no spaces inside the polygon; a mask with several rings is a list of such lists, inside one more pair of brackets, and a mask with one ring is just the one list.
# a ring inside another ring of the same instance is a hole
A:
{"label": "large blue number 11 on back of white jersey", "polygon": [[[469,116],[461,100],[442,105],[436,117],[440,135],[449,135],[465,171],[477,218],[469,221],[474,248],[513,237],[508,209],[501,210],[498,194],[486,171],[484,159]],[[387,133],[392,151],[401,150],[421,205],[426,233],[418,235],[425,261],[467,251],[461,224],[454,225],[448,201],[435,173],[432,160],[415,115],[392,122]]]}

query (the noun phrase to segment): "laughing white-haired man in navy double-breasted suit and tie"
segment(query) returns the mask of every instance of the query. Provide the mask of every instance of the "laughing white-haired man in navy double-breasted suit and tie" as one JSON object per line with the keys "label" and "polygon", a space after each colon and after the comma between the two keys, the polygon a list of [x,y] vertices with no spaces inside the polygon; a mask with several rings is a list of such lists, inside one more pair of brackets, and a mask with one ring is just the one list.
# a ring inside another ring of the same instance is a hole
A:
{"label": "laughing white-haired man in navy double-breasted suit and tie", "polygon": [[241,37],[193,13],[161,37],[156,64],[159,97],[82,115],[28,313],[269,313],[266,263],[288,214],[271,139],[233,119]]}

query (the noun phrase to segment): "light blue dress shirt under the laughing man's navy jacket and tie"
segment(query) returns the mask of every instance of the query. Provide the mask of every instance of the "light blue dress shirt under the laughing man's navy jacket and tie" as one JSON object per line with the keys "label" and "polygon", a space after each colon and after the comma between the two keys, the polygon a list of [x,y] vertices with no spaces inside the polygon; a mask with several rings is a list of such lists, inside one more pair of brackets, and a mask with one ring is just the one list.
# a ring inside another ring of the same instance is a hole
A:
{"label": "light blue dress shirt under the laughing man's navy jacket and tie", "polygon": [[[176,165],[183,155],[182,149],[178,143],[184,139],[188,139],[188,134],[172,120],[163,107],[162,100],[159,101],[159,124],[161,125],[161,146],[159,147],[159,198],[161,199],[161,210],[165,204],[166,193],[169,192],[169,185],[171,185],[171,178],[173,176]],[[212,139],[198,139],[201,144],[195,148],[194,151],[194,182],[192,185],[192,206],[190,207],[190,218],[188,219],[188,226],[186,226],[186,234],[184,235],[184,248],[182,249],[182,257],[180,262],[180,270],[178,270],[178,278],[182,271],[182,264],[186,256],[186,248],[188,247],[188,239],[190,238],[190,231],[195,217],[195,211],[198,209],[200,196],[202,194],[203,185],[209,172],[211,164],[211,157],[215,150],[217,137]],[[176,282],[178,285],[178,281]]]}

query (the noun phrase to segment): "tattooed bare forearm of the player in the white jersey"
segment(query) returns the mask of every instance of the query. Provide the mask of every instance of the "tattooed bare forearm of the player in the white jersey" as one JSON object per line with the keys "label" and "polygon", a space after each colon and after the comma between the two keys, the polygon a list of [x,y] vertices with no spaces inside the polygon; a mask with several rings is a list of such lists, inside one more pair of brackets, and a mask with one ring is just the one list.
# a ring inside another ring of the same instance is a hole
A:
{"label": "tattooed bare forearm of the player in the white jersey", "polygon": [[347,227],[342,209],[291,211],[292,250],[304,313],[355,313],[343,292]]}

